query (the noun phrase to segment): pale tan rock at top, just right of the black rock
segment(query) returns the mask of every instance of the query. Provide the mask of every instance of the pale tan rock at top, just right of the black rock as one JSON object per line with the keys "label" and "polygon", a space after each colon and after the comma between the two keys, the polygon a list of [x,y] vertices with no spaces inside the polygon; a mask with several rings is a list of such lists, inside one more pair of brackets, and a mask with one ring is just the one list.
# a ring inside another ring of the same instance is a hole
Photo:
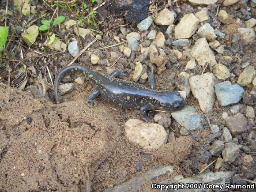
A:
{"label": "pale tan rock at top, just right of the black rock", "polygon": [[173,24],[175,14],[169,9],[164,8],[154,19],[154,23],[157,25],[171,25]]}

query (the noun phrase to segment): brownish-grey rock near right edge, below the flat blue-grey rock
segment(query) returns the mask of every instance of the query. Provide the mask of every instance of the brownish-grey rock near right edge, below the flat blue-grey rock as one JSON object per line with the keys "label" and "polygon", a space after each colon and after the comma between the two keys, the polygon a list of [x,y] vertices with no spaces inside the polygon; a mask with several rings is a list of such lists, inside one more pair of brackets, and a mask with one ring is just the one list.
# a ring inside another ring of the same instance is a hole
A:
{"label": "brownish-grey rock near right edge, below the flat blue-grey rock", "polygon": [[227,117],[225,120],[226,126],[229,128],[233,136],[247,131],[247,120],[241,113]]}

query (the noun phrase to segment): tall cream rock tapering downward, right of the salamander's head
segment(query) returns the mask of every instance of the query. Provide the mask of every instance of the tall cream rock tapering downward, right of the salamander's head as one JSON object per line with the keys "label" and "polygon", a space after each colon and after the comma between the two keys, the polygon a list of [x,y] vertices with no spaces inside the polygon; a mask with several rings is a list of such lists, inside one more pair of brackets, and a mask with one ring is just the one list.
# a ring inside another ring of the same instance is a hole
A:
{"label": "tall cream rock tapering downward, right of the salamander's head", "polygon": [[204,113],[213,109],[215,100],[214,79],[211,72],[189,78],[191,91]]}

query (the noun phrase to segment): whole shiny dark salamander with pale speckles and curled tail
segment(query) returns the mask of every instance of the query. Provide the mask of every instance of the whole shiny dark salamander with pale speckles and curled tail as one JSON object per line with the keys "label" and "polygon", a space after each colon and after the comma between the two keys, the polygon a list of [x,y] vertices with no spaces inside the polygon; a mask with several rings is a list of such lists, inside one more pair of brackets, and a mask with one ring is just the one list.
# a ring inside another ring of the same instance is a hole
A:
{"label": "whole shiny dark salamander with pale speckles and curled tail", "polygon": [[[114,105],[128,109],[139,109],[140,116],[145,121],[150,121],[147,117],[147,111],[160,109],[173,112],[182,109],[186,105],[186,102],[178,92],[155,91],[139,83],[115,78],[125,76],[125,71],[121,69],[117,69],[109,76],[105,76],[82,65],[68,66],[56,76],[54,93],[57,103],[60,103],[58,96],[60,80],[70,72],[85,72],[86,78],[90,80],[94,87],[94,91],[87,98],[87,102],[91,105],[97,105],[98,102],[94,98],[101,95],[102,98]],[[154,80],[152,76],[149,79]],[[151,87],[153,89],[154,83],[151,83]]]}

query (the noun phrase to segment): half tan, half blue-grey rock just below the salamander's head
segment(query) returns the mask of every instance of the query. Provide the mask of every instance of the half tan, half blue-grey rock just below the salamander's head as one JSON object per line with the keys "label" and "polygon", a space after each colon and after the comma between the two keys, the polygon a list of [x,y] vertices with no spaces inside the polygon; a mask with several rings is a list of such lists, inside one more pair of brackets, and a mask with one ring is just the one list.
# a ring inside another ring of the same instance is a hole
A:
{"label": "half tan, half blue-grey rock just below the salamander's head", "polygon": [[181,111],[171,113],[173,119],[175,119],[181,126],[188,131],[201,129],[201,115],[196,112],[196,109],[192,106],[186,106]]}

